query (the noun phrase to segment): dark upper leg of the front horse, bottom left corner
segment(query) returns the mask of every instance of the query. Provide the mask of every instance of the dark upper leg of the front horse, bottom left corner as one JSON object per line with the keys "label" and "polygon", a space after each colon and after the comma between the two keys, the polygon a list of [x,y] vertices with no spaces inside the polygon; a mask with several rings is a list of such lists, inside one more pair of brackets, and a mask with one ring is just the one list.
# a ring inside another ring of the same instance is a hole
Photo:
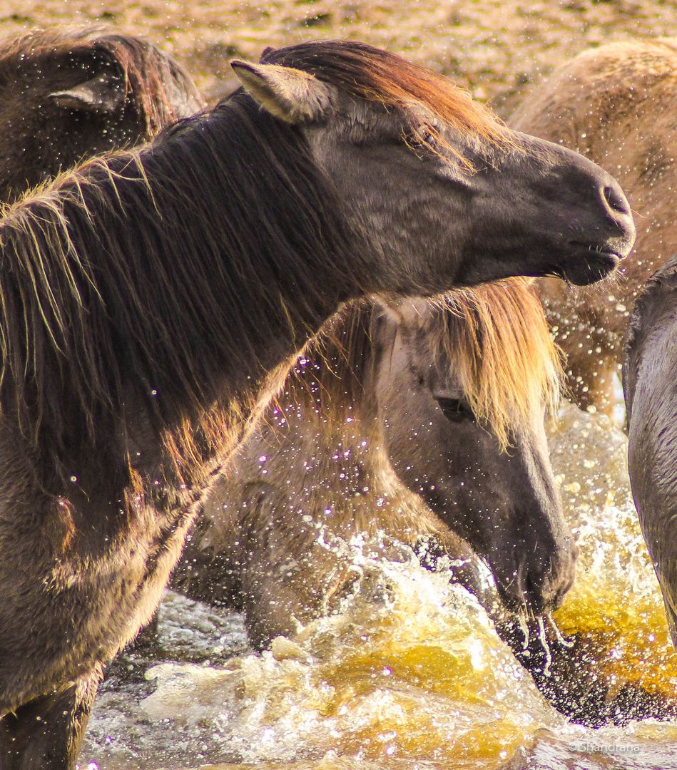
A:
{"label": "dark upper leg of the front horse, bottom left corner", "polygon": [[2,770],[72,770],[99,678],[41,695],[0,719]]}

